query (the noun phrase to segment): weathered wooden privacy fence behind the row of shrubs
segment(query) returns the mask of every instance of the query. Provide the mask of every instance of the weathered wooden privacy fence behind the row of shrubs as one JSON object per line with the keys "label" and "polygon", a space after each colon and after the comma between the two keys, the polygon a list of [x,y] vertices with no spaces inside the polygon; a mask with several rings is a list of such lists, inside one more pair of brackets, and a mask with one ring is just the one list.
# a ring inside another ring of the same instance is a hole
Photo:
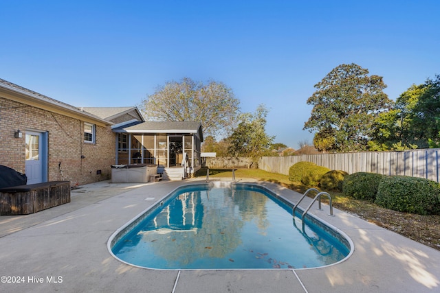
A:
{"label": "weathered wooden privacy fence behind the row of shrubs", "polygon": [[349,152],[339,154],[304,154],[300,156],[263,156],[259,169],[289,174],[289,168],[300,161],[309,161],[332,170],[353,174],[371,172],[404,175],[439,182],[440,149],[408,150],[405,152]]}

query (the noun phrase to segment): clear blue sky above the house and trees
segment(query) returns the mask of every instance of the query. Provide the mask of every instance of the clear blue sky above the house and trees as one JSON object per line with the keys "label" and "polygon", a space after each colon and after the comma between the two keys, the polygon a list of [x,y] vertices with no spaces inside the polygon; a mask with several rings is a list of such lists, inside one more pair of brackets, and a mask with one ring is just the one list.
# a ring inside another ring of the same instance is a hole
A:
{"label": "clear blue sky above the house and trees", "polygon": [[334,67],[396,99],[440,74],[440,1],[0,0],[0,78],[74,106],[136,106],[184,77],[230,86],[298,148],[307,98]]}

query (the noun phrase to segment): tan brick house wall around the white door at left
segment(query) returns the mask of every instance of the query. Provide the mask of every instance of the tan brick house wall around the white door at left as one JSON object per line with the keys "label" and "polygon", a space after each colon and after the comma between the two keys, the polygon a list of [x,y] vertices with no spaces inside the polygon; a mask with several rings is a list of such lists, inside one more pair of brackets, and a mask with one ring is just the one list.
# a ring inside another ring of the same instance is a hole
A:
{"label": "tan brick house wall around the white door at left", "polygon": [[[115,134],[96,125],[95,143],[84,141],[84,122],[0,97],[0,164],[25,173],[25,132],[47,132],[47,180],[84,185],[111,176]],[[14,138],[21,130],[23,137]]]}

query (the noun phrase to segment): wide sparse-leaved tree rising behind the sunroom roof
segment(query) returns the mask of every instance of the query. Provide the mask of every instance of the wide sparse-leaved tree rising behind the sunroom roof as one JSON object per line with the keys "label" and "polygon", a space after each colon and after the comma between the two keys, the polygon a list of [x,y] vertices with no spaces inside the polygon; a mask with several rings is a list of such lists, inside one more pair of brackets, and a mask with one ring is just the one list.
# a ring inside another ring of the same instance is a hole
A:
{"label": "wide sparse-leaved tree rising behind the sunroom roof", "polygon": [[222,82],[195,82],[182,78],[167,82],[142,101],[148,120],[200,121],[208,135],[227,134],[239,115],[239,99]]}

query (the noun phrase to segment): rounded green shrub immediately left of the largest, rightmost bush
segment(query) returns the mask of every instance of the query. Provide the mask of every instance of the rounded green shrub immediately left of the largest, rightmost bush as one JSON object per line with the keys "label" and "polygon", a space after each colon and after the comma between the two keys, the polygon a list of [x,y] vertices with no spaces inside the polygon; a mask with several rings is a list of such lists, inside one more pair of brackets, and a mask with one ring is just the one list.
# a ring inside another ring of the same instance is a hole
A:
{"label": "rounded green shrub immediately left of the largest, rightmost bush", "polygon": [[379,183],[384,175],[358,172],[345,176],[342,183],[342,194],[352,196],[358,200],[369,200],[374,202],[376,199]]}

